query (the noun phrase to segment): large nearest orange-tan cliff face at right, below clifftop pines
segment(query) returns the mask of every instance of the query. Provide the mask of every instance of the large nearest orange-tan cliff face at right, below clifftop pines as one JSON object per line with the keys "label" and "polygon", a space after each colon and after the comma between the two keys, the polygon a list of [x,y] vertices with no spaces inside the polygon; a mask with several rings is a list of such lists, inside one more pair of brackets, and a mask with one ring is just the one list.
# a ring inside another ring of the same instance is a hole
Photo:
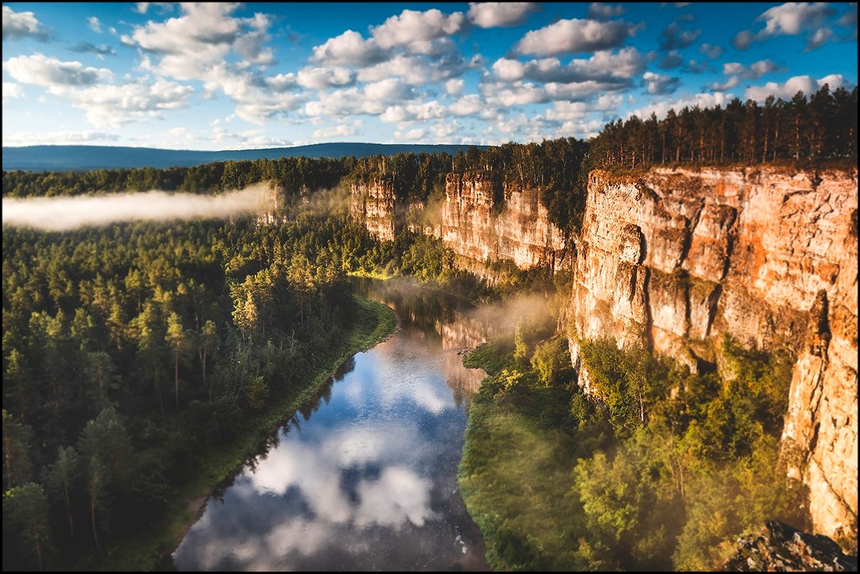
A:
{"label": "large nearest orange-tan cliff face at right, below clifftop pines", "polygon": [[796,353],[783,454],[815,532],[856,545],[857,171],[593,172],[576,247],[576,367],[606,336],[691,369],[719,366],[723,333]]}

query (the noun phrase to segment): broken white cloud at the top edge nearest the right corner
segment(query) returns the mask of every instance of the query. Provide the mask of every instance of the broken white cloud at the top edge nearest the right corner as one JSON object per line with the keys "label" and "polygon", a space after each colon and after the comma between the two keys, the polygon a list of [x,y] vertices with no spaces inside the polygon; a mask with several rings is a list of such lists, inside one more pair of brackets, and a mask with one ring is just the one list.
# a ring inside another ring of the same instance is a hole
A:
{"label": "broken white cloud at the top edge nearest the right corner", "polygon": [[753,42],[763,42],[775,36],[787,34],[797,36],[807,34],[805,51],[823,46],[832,37],[832,30],[826,21],[833,15],[833,9],[826,2],[789,2],[766,9],[756,18],[765,22],[765,27],[754,33],[741,30],[734,36],[732,43],[738,50],[746,50]]}

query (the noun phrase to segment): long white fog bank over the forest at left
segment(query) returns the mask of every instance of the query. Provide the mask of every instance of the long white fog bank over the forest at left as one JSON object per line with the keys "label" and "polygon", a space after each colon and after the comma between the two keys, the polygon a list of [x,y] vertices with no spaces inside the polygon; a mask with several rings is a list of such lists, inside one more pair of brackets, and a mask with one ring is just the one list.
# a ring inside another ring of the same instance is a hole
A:
{"label": "long white fog bank over the forest at left", "polygon": [[3,225],[70,231],[131,221],[223,219],[270,209],[272,192],[261,183],[220,195],[150,192],[52,198],[3,198]]}

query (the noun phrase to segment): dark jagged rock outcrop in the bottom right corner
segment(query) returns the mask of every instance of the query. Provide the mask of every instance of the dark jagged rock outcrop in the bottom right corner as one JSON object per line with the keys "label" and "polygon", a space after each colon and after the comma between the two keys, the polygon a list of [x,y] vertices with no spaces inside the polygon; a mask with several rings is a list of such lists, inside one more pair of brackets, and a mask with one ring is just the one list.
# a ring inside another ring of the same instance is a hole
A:
{"label": "dark jagged rock outcrop in the bottom right corner", "polygon": [[723,567],[729,572],[856,572],[857,556],[821,534],[807,534],[784,522],[768,522],[759,536],[743,536]]}

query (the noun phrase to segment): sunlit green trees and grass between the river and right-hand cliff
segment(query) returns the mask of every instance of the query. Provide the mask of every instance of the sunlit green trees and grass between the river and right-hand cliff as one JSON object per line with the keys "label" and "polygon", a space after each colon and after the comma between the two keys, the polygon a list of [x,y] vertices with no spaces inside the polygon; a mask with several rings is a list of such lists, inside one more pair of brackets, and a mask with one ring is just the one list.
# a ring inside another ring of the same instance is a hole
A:
{"label": "sunlit green trees and grass between the river and right-hand cliff", "polygon": [[[499,365],[473,400],[459,474],[491,565],[714,570],[740,534],[774,518],[799,523],[799,493],[777,478],[781,430],[765,424],[790,357],[724,346],[734,380],[581,341],[592,396],[550,376],[560,338],[535,345],[531,369],[514,370],[513,343],[507,356],[485,345],[467,357]],[[548,451],[552,465],[535,460]]]}

